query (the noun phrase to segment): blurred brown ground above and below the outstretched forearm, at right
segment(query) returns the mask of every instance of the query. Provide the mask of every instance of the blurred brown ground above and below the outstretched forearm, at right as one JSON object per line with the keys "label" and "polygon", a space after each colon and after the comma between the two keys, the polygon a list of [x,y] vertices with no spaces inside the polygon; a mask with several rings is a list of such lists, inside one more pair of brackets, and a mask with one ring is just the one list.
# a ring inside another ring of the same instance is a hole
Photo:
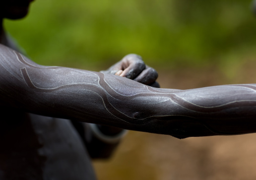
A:
{"label": "blurred brown ground above and below the outstretched forearm, at right", "polygon": [[[237,65],[237,64],[236,64]],[[255,83],[256,62],[241,61],[231,76],[220,67],[158,69],[162,88]],[[231,73],[232,74],[232,73]],[[256,118],[256,117],[255,117]],[[113,157],[94,161],[103,179],[256,179],[256,134],[190,137],[130,131]]]}

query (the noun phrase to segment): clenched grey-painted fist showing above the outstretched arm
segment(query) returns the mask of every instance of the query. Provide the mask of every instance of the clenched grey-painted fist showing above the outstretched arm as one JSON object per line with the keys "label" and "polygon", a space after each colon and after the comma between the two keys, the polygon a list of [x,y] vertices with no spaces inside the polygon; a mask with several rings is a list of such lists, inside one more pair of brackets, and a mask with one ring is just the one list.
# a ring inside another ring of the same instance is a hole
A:
{"label": "clenched grey-painted fist showing above the outstretched arm", "polygon": [[102,72],[126,77],[152,87],[160,87],[156,82],[158,77],[156,70],[147,66],[143,62],[141,56],[136,54],[124,56],[121,61],[111,66],[108,70]]}

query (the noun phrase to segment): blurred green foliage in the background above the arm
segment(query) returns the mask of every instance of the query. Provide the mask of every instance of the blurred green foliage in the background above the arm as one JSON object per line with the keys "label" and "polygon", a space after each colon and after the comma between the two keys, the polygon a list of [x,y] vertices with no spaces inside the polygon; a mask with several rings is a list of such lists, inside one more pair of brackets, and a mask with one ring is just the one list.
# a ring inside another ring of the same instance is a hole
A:
{"label": "blurred green foliage in the background above the arm", "polygon": [[5,25],[44,65],[108,66],[137,53],[152,66],[228,67],[256,54],[248,0],[37,0]]}

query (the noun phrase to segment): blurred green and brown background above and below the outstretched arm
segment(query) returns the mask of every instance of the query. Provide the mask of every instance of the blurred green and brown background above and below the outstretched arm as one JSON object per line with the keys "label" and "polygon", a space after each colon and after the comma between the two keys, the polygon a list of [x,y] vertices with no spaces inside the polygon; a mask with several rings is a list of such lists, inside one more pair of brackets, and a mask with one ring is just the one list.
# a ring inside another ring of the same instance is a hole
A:
{"label": "blurred green and brown background above and below the outstretched arm", "polygon": [[[163,88],[256,81],[249,0],[36,0],[26,19],[4,23],[42,65],[99,71],[137,53]],[[130,131],[111,159],[94,166],[100,180],[256,179],[255,139]]]}

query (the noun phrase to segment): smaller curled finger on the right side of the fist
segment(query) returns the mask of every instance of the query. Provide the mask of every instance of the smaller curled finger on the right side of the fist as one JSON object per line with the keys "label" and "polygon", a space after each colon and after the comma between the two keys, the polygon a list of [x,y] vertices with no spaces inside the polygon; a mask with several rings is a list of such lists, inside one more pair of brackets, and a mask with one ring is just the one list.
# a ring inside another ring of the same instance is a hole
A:
{"label": "smaller curled finger on the right side of the fist", "polygon": [[134,80],[142,84],[152,84],[156,81],[158,73],[155,69],[147,67]]}

